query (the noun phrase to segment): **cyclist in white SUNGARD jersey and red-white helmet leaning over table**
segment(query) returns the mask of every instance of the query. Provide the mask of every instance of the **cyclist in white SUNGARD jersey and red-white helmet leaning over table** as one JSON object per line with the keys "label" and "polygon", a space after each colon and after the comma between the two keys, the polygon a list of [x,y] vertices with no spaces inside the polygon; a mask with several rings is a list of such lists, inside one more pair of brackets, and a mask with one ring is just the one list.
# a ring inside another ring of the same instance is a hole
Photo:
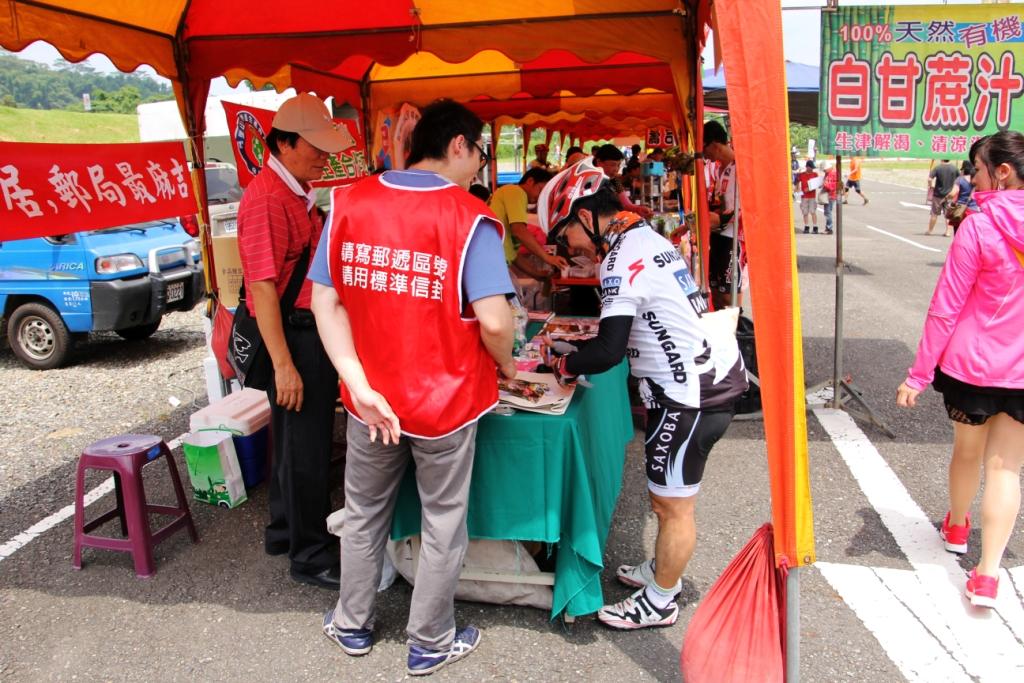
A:
{"label": "cyclist in white SUNGARD jersey and red-white helmet leaning over table", "polygon": [[617,579],[638,590],[602,607],[598,620],[615,629],[671,626],[696,544],[693,511],[705,463],[746,389],[739,348],[734,335],[715,333],[701,319],[707,304],[682,256],[640,216],[621,211],[601,169],[585,160],[555,176],[538,202],[538,217],[559,244],[607,249],[597,337],[571,348],[551,344],[546,360],[560,380],[572,381],[627,356],[647,409],[647,488],[658,518],[654,558],[618,567]]}

